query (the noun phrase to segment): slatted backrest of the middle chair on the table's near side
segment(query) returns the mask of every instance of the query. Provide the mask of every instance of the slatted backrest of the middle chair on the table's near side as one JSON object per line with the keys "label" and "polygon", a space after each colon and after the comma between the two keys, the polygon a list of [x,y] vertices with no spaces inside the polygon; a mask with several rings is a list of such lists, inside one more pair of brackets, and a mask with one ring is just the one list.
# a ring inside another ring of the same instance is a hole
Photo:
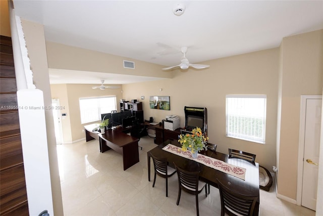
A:
{"label": "slatted backrest of the middle chair on the table's near side", "polygon": [[198,193],[198,177],[200,171],[188,171],[178,167],[175,163],[175,168],[178,175],[178,183],[181,185],[181,188],[190,193]]}

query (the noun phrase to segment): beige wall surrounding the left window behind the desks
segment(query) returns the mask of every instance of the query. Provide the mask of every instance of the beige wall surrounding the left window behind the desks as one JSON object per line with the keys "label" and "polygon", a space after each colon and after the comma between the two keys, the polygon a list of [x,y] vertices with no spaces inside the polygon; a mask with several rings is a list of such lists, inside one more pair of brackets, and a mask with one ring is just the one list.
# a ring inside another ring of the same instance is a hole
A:
{"label": "beige wall surrounding the left window behind the desks", "polygon": [[93,90],[92,84],[52,84],[50,86],[51,97],[60,99],[60,105],[65,106],[65,110],[61,112],[67,113],[65,119],[62,119],[64,143],[72,143],[85,138],[83,129],[86,124],[81,124],[79,98],[116,96],[117,107],[120,111],[119,101],[122,99],[122,85],[116,85],[120,89],[106,90]]}

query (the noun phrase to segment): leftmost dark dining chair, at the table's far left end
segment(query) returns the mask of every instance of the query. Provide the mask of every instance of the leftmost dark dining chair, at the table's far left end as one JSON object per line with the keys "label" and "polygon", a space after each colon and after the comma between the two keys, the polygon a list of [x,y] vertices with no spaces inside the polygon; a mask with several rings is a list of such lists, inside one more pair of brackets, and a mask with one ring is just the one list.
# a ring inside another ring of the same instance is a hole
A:
{"label": "leftmost dark dining chair, at the table's far left end", "polygon": [[152,187],[155,187],[156,175],[166,179],[166,197],[168,197],[168,178],[172,177],[176,170],[168,166],[168,162],[165,158],[159,158],[154,155],[151,155],[154,167],[154,178]]}

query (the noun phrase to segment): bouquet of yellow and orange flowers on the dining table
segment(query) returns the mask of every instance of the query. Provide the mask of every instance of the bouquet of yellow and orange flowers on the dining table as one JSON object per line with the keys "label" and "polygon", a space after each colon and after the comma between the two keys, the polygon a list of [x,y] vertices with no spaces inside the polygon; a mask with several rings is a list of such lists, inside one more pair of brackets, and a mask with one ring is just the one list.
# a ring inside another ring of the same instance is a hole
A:
{"label": "bouquet of yellow and orange flowers on the dining table", "polygon": [[204,137],[201,128],[192,129],[191,134],[180,135],[178,142],[182,145],[182,150],[189,150],[192,153],[199,152],[202,149],[206,150],[206,141],[208,137]]}

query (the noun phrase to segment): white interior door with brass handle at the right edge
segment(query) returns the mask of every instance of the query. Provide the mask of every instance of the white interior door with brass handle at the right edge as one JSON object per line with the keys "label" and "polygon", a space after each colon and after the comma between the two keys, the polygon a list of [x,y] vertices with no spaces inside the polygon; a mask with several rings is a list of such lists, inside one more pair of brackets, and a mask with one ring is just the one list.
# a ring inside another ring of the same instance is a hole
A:
{"label": "white interior door with brass handle at the right edge", "polygon": [[322,99],[306,99],[301,205],[316,209]]}

